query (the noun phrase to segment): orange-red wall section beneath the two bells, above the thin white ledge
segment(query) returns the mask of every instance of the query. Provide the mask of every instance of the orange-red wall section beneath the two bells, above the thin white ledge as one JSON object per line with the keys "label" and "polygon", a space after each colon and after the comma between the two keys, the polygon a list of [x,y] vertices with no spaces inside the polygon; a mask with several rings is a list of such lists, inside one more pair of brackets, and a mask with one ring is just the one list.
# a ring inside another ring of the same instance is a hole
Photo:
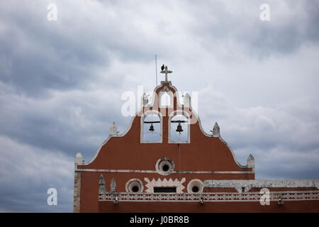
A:
{"label": "orange-red wall section beneath the two bells, above the thin white ledge", "polygon": [[126,135],[112,137],[93,162],[79,169],[155,170],[159,158],[169,157],[174,170],[248,171],[235,163],[219,138],[201,135],[196,125],[191,125],[191,143],[140,143],[140,120],[136,118]]}

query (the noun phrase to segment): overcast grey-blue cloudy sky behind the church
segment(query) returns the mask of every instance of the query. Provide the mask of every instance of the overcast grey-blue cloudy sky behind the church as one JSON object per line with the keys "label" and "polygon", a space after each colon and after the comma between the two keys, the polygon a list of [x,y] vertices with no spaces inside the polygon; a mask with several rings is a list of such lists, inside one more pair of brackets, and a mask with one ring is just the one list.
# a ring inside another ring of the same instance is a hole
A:
{"label": "overcast grey-blue cloudy sky behind the church", "polygon": [[72,211],[74,156],[128,128],[121,95],[154,89],[155,54],[257,179],[318,179],[318,24],[312,0],[0,1],[0,211]]}

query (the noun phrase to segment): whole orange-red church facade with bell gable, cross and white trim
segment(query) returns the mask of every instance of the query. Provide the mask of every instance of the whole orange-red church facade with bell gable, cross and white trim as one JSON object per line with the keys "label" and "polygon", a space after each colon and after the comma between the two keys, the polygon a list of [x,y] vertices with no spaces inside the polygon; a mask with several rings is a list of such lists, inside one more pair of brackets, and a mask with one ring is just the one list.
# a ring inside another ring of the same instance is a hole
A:
{"label": "whole orange-red church facade with bell gable, cross and white trim", "polygon": [[256,180],[220,136],[201,127],[185,94],[165,80],[130,126],[113,123],[91,162],[77,153],[74,212],[319,212],[319,180]]}

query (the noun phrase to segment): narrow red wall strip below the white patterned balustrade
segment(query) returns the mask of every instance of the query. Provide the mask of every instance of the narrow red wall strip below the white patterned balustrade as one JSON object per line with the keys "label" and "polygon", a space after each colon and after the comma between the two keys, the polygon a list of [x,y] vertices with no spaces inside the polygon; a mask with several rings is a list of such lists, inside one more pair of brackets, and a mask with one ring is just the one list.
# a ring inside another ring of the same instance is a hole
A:
{"label": "narrow red wall strip below the white patterned balustrade", "polygon": [[155,213],[262,213],[262,212],[315,212],[319,211],[318,201],[284,201],[279,206],[277,201],[271,201],[270,205],[262,206],[259,201],[250,202],[118,202],[114,205],[111,201],[100,201],[99,212],[155,212]]}

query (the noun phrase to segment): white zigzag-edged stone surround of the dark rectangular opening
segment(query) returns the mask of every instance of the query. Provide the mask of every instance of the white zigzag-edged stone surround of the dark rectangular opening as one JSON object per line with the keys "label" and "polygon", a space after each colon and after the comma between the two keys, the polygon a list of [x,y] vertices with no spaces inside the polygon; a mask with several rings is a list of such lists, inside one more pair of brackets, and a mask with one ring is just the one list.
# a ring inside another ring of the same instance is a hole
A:
{"label": "white zigzag-edged stone surround of the dark rectangular opening", "polygon": [[176,187],[176,192],[181,193],[183,192],[183,189],[185,188],[183,183],[186,181],[186,178],[185,177],[181,178],[181,181],[179,181],[179,179],[174,179],[173,181],[172,178],[169,178],[169,180],[167,180],[166,178],[164,178],[163,180],[162,179],[155,180],[154,178],[150,180],[147,177],[145,177],[144,180],[145,182],[147,182],[147,184],[145,184],[145,187],[146,187],[145,192],[147,193],[153,193],[154,187]]}

